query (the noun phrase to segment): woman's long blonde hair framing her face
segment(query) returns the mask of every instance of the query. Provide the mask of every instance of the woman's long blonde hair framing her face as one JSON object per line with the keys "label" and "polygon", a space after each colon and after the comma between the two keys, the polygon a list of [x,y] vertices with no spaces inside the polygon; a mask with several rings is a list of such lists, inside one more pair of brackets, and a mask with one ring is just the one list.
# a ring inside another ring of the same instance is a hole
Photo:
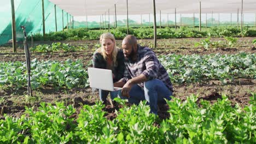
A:
{"label": "woman's long blonde hair framing her face", "polygon": [[[113,59],[114,65],[116,66],[117,65],[118,49],[120,49],[120,48],[117,47],[117,44],[115,43],[114,35],[111,33],[103,33],[103,34],[101,34],[101,37],[100,37],[100,43],[101,43],[102,39],[110,39],[113,41],[114,49],[112,51],[112,59]],[[104,47],[102,46],[102,43],[101,43],[101,47],[97,49],[97,52],[100,52],[101,55],[103,56],[103,58],[107,61],[107,53],[106,53]]]}

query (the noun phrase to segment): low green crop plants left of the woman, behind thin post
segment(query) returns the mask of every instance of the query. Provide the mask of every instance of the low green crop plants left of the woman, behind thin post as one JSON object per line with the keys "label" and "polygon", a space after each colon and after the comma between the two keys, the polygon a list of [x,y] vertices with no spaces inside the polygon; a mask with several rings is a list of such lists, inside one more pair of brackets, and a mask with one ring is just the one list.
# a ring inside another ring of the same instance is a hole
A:
{"label": "low green crop plants left of the woman, behind thin post", "polygon": [[[0,87],[10,86],[15,89],[27,83],[25,62],[0,63]],[[88,74],[80,61],[65,62],[31,61],[31,86],[33,89],[45,85],[54,88],[73,88],[88,86]]]}

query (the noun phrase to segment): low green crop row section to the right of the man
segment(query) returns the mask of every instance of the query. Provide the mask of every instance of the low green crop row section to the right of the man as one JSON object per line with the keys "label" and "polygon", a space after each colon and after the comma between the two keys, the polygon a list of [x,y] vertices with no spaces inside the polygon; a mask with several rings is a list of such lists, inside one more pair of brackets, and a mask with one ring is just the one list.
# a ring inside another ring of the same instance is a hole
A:
{"label": "low green crop row section to the right of the man", "polygon": [[167,55],[159,56],[175,83],[201,82],[205,80],[226,80],[235,78],[256,79],[255,54],[236,55]]}

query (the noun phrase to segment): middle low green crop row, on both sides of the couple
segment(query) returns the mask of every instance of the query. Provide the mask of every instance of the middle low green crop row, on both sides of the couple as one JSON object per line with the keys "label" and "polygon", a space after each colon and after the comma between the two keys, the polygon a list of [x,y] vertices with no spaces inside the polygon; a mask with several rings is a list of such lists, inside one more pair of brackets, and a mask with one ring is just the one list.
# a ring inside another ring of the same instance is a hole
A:
{"label": "middle low green crop row, on both sides of the couple", "polygon": [[[256,79],[255,54],[236,55],[167,55],[159,56],[173,83],[191,83],[207,80],[227,80],[236,78]],[[85,65],[88,67],[88,65]],[[43,86],[73,88],[88,86],[88,73],[83,63],[31,61],[31,85],[33,89]],[[26,85],[25,62],[0,63],[0,87],[19,89]]]}

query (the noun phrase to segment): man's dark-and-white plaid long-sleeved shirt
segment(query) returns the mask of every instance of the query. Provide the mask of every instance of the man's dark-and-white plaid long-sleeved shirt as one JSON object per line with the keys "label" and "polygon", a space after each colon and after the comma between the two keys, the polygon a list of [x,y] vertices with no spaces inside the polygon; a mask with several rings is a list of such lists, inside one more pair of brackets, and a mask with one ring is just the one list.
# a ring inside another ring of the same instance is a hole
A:
{"label": "man's dark-and-white plaid long-sleeved shirt", "polygon": [[[127,82],[133,77],[144,74],[148,80],[159,79],[165,83],[168,89],[172,90],[172,83],[167,71],[158,61],[155,52],[149,49],[149,47],[142,47],[138,45],[137,59],[132,61],[130,58],[125,59],[125,73],[123,82]],[[143,83],[138,83],[143,87]]]}

